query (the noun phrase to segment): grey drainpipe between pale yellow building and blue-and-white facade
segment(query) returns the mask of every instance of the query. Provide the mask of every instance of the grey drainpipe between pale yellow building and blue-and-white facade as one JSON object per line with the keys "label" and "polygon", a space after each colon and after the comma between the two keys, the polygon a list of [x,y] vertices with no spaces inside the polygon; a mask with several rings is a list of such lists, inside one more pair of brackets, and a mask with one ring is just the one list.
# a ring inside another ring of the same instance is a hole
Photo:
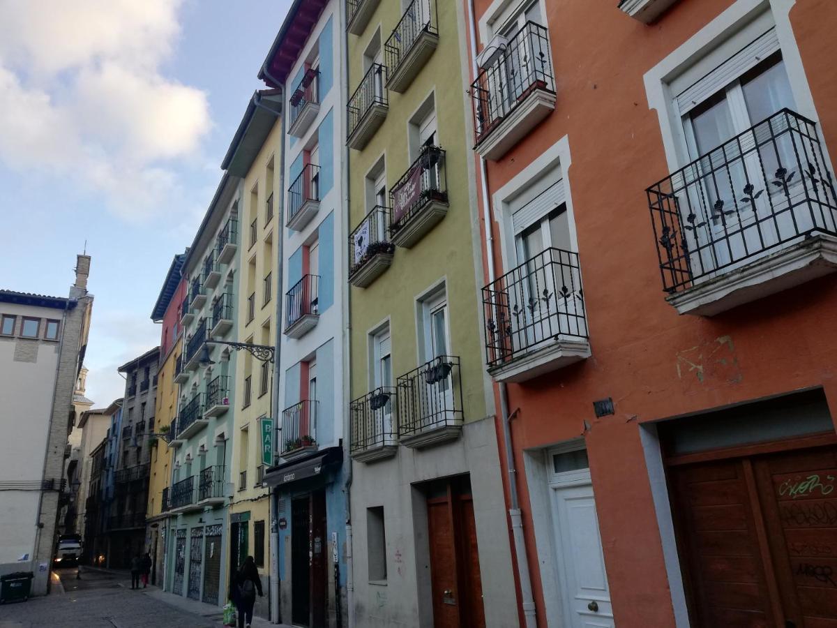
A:
{"label": "grey drainpipe between pale yellow building and blue-and-white facade", "polygon": [[[267,68],[267,64],[262,66],[262,72],[264,75],[267,76],[270,80],[272,80],[276,85],[282,85],[282,83],[278,80],[275,80],[273,76],[270,75],[270,71]],[[279,195],[277,198],[277,219],[279,219],[280,228],[282,225],[285,224],[285,90],[280,86],[276,88],[280,90],[280,96],[282,98],[282,109],[281,109],[281,142],[282,142],[282,152],[279,157]],[[264,107],[261,104],[261,96],[257,93],[255,95],[254,104],[257,107]],[[271,115],[275,115],[275,111],[270,111]],[[285,292],[282,290],[282,283],[284,281],[284,255],[285,255],[285,232],[284,229],[282,231],[282,237],[279,239],[279,260],[277,261],[277,268],[276,272],[279,276],[279,289],[277,290],[277,298],[276,298],[276,347],[275,347],[275,355],[273,361],[273,386],[272,386],[272,399],[270,399],[270,414],[273,416],[274,420],[274,451],[276,449],[276,444],[281,442],[280,433],[282,428],[279,425],[279,383],[280,383],[280,365],[281,365],[281,357],[282,357],[282,335],[280,332],[282,326],[282,305],[283,295]],[[270,491],[270,622],[273,624],[279,623],[279,492],[276,489],[272,489]]]}

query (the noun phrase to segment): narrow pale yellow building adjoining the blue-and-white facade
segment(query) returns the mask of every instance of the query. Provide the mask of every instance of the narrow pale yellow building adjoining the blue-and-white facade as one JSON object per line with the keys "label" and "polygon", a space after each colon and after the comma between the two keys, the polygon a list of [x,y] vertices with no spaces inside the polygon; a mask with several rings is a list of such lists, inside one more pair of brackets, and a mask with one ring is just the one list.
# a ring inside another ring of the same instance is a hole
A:
{"label": "narrow pale yellow building adjoining the blue-and-white facade", "polygon": [[[239,246],[239,302],[235,307],[236,337],[240,342],[275,347],[276,306],[280,272],[277,260],[282,235],[279,203],[281,186],[282,99],[277,90],[256,92],[239,125],[223,168],[244,179],[244,225]],[[246,351],[235,369],[233,466],[234,493],[230,503],[230,569],[252,555],[262,580],[264,597],[256,599],[255,615],[270,616],[267,595],[270,579],[270,492],[262,485],[261,430],[265,418],[275,416],[273,368]],[[272,430],[271,430],[272,433]],[[268,465],[269,466],[269,465]]]}

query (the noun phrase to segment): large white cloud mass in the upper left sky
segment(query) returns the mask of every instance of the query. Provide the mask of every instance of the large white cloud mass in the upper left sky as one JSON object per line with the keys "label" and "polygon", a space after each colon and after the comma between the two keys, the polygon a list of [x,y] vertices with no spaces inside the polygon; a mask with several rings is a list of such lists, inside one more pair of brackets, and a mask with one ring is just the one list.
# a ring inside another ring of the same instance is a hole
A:
{"label": "large white cloud mass in the upper left sky", "polygon": [[184,196],[206,93],[162,74],[181,0],[0,0],[0,160],[63,176],[129,219]]}

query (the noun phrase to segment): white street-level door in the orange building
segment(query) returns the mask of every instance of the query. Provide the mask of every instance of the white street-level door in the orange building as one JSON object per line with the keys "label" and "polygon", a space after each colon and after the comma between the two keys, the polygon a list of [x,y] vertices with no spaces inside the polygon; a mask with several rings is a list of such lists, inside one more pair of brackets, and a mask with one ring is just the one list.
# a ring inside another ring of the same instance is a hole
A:
{"label": "white street-level door in the orange building", "polygon": [[[562,620],[569,628],[614,628],[590,472],[550,482]],[[552,625],[552,623],[550,624]]]}

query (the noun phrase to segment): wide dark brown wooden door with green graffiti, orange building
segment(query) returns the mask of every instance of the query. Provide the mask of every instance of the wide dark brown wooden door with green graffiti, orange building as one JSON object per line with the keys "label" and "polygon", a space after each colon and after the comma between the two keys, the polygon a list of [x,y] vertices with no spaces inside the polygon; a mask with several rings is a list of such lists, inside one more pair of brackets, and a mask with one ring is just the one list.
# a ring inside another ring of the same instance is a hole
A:
{"label": "wide dark brown wooden door with green graffiti, orange building", "polygon": [[837,628],[837,448],[669,472],[693,625]]}

